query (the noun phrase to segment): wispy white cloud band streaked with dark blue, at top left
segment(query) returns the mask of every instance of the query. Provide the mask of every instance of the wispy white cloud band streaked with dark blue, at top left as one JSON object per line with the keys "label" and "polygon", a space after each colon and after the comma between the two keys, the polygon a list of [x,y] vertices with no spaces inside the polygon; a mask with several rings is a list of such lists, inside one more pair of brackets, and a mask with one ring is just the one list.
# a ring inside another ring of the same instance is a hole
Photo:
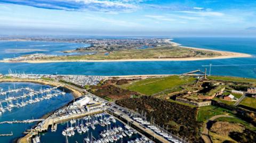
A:
{"label": "wispy white cloud band streaked with dark blue, at top left", "polygon": [[66,11],[95,11],[95,12],[133,12],[139,9],[135,0],[6,0],[0,3],[18,4],[38,7],[42,9],[56,9]]}

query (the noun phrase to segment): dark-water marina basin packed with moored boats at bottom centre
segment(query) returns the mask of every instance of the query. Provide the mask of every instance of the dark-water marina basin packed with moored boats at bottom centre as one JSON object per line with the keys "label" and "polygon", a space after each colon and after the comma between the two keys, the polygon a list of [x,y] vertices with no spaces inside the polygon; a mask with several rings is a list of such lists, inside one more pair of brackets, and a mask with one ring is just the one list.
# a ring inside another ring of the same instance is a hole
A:
{"label": "dark-water marina basin packed with moored boats at bottom centre", "polygon": [[39,135],[41,142],[47,142],[49,136],[59,138],[54,142],[149,142],[148,138],[106,113],[60,123],[56,131]]}

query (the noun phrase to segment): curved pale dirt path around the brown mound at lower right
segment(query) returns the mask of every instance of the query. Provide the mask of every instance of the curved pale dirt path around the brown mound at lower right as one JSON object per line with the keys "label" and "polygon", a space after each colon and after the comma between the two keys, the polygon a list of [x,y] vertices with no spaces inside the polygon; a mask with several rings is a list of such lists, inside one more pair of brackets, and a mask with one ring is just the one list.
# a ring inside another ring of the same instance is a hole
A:
{"label": "curved pale dirt path around the brown mound at lower right", "polygon": [[218,119],[219,117],[234,117],[234,116],[229,116],[229,115],[216,115],[216,116],[213,116],[211,117],[205,124],[204,124],[204,129],[203,129],[203,132],[202,132],[202,138],[204,140],[205,143],[211,143],[211,139],[209,138],[209,123],[211,121],[214,121],[216,119]]}

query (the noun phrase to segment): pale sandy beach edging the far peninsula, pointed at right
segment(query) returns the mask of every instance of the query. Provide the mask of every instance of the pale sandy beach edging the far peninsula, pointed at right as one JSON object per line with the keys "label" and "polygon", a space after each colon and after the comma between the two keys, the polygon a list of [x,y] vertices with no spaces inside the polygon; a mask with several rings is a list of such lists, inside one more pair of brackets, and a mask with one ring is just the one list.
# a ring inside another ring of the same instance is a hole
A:
{"label": "pale sandy beach edging the far peninsula, pointed at right", "polygon": [[1,63],[59,63],[59,62],[158,62],[158,61],[201,61],[201,60],[217,60],[225,58],[241,58],[241,57],[253,57],[250,54],[218,51],[213,49],[196,48],[181,46],[181,44],[169,41],[173,46],[179,46],[182,48],[196,49],[198,51],[210,51],[221,54],[220,56],[213,57],[186,57],[186,58],[141,58],[141,59],[121,59],[121,60],[27,60],[27,61],[6,61],[0,60]]}

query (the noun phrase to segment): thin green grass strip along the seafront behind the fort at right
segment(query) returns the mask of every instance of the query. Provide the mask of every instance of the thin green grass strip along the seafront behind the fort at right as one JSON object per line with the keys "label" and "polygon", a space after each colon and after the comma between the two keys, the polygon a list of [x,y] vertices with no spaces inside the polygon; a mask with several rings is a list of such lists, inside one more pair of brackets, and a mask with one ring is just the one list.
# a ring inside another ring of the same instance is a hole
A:
{"label": "thin green grass strip along the seafront behind the fort at right", "polygon": [[222,81],[236,81],[236,82],[246,82],[246,83],[256,83],[256,79],[249,78],[238,78],[238,77],[218,77],[218,76],[210,76],[207,77],[212,80],[222,80]]}

